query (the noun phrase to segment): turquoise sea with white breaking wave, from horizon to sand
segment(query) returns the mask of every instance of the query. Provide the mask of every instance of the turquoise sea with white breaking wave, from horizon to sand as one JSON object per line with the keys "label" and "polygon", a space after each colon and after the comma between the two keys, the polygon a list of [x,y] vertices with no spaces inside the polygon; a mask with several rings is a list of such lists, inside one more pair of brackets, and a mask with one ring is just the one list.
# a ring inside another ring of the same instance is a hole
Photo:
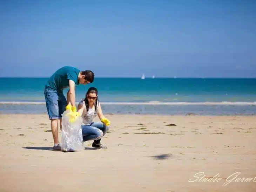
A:
{"label": "turquoise sea with white breaking wave, from horizon to sand", "polygon": [[[0,78],[0,113],[47,113],[47,80]],[[89,87],[98,89],[105,114],[256,114],[256,78],[95,78],[76,87],[76,102]]]}

